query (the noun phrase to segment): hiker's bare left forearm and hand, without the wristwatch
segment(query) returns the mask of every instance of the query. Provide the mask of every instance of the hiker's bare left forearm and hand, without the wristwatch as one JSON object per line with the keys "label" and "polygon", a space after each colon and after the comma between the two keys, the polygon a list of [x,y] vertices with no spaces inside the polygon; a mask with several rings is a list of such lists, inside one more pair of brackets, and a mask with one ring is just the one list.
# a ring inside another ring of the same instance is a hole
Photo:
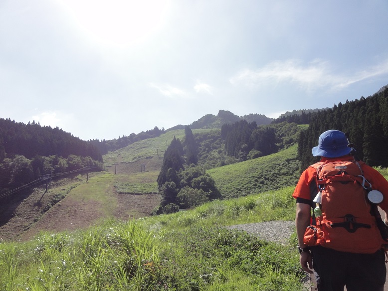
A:
{"label": "hiker's bare left forearm and hand, without the wristwatch", "polygon": [[[298,237],[298,245],[302,249],[307,247],[303,243],[303,237],[306,231],[307,226],[310,225],[311,218],[311,206],[310,204],[305,203],[296,203],[296,215],[295,215],[295,226],[296,226],[296,234]],[[300,265],[302,269],[310,274],[313,272],[313,262],[311,259],[310,252],[303,252],[300,254]]]}

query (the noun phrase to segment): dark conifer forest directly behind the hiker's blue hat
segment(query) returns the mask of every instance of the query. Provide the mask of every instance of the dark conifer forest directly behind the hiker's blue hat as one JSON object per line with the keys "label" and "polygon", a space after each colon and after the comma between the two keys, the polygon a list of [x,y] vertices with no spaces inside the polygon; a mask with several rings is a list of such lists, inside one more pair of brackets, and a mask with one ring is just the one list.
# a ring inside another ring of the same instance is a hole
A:
{"label": "dark conifer forest directly behind the hiker's blue hat", "polygon": [[309,128],[299,137],[298,155],[302,168],[316,161],[311,148],[318,145],[321,133],[331,129],[349,133],[360,159],[371,166],[387,167],[388,89],[316,113]]}

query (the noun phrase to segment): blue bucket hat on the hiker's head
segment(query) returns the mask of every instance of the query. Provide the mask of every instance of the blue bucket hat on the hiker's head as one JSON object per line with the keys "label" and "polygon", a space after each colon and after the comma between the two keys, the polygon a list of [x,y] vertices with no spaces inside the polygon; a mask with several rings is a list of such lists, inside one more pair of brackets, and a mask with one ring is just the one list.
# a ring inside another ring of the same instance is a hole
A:
{"label": "blue bucket hat on the hiker's head", "polygon": [[313,147],[314,156],[339,157],[350,153],[348,139],[340,131],[330,130],[319,137],[318,146]]}

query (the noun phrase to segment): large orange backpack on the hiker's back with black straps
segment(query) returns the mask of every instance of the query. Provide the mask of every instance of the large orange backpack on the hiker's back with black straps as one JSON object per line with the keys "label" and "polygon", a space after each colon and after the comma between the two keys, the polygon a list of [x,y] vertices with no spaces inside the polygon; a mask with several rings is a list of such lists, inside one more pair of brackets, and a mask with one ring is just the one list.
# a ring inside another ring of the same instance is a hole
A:
{"label": "large orange backpack on the hiker's back with black straps", "polygon": [[387,244],[377,225],[376,211],[372,209],[376,206],[367,199],[371,185],[363,176],[362,163],[336,161],[311,165],[317,171],[320,196],[317,206],[322,215],[315,217],[316,225],[307,227],[306,245],[372,254]]}

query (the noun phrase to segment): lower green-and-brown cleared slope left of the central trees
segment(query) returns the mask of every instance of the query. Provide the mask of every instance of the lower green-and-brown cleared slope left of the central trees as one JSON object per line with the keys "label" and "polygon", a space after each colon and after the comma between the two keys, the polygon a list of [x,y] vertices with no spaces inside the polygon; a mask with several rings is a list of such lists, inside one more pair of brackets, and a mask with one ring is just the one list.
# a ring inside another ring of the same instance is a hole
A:
{"label": "lower green-and-brown cleared slope left of the central trees", "polygon": [[[161,199],[155,194],[158,174],[155,171],[125,175],[90,173],[88,181],[86,175],[79,175],[55,182],[47,193],[37,188],[14,206],[13,217],[0,227],[0,238],[26,240],[40,230],[84,229],[108,218],[128,220],[130,216],[148,216]],[[123,193],[118,193],[117,187],[124,189]],[[53,197],[63,192],[65,198],[42,213]]]}

